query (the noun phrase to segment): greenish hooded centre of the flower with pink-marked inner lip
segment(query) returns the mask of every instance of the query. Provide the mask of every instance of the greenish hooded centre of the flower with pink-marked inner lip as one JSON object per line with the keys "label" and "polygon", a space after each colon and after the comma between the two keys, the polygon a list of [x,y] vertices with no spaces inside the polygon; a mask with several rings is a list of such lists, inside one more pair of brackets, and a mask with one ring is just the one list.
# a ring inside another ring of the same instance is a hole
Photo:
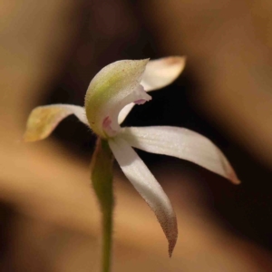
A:
{"label": "greenish hooded centre of the flower with pink-marked inner lip", "polygon": [[118,115],[131,102],[151,100],[141,86],[149,60],[111,63],[95,75],[85,97],[85,108],[92,131],[108,138],[120,130]]}

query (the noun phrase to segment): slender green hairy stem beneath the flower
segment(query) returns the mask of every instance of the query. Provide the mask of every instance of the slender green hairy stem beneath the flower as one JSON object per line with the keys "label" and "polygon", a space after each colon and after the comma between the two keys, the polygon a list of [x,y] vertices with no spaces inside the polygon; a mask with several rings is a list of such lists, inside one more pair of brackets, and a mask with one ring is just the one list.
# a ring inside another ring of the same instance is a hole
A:
{"label": "slender green hairy stem beneath the flower", "polygon": [[92,157],[92,187],[102,210],[102,272],[110,272],[112,259],[112,151],[107,141],[98,139]]}

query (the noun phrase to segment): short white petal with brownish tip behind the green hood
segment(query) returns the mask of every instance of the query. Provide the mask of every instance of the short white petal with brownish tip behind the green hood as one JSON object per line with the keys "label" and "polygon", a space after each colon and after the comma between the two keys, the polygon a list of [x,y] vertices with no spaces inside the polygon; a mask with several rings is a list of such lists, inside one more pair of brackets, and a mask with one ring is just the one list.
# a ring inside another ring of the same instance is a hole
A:
{"label": "short white petal with brownish tip behind the green hood", "polygon": [[141,85],[147,92],[165,87],[178,78],[185,63],[186,58],[180,56],[150,61],[143,74]]}

